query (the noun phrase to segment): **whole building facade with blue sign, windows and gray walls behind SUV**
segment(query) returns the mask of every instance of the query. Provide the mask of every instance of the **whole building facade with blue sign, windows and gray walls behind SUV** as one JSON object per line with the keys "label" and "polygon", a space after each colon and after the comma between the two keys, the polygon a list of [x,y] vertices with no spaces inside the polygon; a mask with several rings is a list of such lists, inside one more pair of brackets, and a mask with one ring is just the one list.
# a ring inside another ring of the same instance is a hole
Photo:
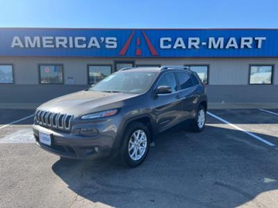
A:
{"label": "whole building facade with blue sign, windows and gray walls behind SUV", "polygon": [[1,102],[39,104],[122,67],[186,66],[211,103],[278,103],[277,29],[1,28]]}

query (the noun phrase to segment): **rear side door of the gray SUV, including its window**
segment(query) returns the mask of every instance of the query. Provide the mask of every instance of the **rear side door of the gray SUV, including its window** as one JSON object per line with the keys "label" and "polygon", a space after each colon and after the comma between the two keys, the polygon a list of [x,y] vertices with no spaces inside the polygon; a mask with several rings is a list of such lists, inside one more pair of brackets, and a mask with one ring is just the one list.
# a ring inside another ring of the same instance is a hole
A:
{"label": "rear side door of the gray SUV, including its window", "polygon": [[183,120],[190,119],[195,116],[195,106],[197,105],[196,86],[190,77],[190,72],[177,72],[177,80],[179,83],[181,100],[182,100],[182,116]]}

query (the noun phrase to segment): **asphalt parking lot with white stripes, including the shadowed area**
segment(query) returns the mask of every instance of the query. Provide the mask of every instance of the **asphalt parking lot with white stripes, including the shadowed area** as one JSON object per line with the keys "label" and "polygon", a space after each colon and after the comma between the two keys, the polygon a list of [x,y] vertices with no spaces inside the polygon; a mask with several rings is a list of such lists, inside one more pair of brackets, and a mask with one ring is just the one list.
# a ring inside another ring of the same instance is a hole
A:
{"label": "asphalt parking lot with white stripes, including the shadowed area", "polygon": [[131,169],[51,155],[34,143],[33,111],[0,110],[0,207],[278,207],[278,110],[267,111],[210,110],[203,132],[158,135]]}

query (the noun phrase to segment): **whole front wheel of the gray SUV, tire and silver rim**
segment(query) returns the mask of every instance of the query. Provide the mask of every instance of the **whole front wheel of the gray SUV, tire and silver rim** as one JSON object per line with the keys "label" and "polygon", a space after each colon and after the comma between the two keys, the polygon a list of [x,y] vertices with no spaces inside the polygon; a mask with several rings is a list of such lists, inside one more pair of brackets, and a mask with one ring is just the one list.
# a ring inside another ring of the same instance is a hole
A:
{"label": "whole front wheel of the gray SUV, tire and silver rim", "polygon": [[149,144],[150,135],[146,125],[140,122],[133,122],[128,125],[124,132],[120,150],[120,157],[123,164],[129,167],[140,165],[147,157]]}

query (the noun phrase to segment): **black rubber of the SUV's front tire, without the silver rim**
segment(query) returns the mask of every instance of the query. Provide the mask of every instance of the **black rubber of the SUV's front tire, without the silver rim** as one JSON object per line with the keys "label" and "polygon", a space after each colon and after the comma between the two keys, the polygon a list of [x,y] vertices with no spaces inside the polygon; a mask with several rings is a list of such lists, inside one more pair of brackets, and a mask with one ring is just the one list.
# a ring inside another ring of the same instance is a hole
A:
{"label": "black rubber of the SUV's front tire, without the silver rim", "polygon": [[[140,159],[134,160],[131,158],[131,156],[129,154],[129,141],[130,141],[131,137],[133,136],[133,133],[138,130],[142,130],[142,132],[145,133],[145,135],[147,137],[147,144],[146,144],[146,148],[145,148],[145,153],[142,154],[142,157],[140,157]],[[120,157],[121,157],[120,159],[122,160],[122,163],[129,167],[136,167],[136,166],[140,165],[144,161],[144,159],[147,157],[147,154],[149,152],[150,135],[149,135],[149,129],[147,128],[147,126],[140,122],[132,122],[131,124],[129,124],[126,127],[126,130],[124,132],[124,136],[122,139],[123,139],[123,141],[122,141],[122,146],[120,149]]]}

